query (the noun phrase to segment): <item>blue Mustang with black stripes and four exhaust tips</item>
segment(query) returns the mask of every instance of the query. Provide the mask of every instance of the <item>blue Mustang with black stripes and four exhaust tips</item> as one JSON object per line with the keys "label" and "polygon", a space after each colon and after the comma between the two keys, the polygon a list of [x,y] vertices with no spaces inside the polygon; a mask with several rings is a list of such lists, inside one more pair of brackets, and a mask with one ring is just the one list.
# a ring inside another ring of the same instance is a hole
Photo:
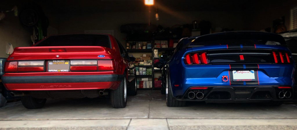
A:
{"label": "blue Mustang with black stripes and four exhaust tips", "polygon": [[280,35],[250,31],[181,39],[166,65],[167,106],[293,99],[295,63],[285,44]]}

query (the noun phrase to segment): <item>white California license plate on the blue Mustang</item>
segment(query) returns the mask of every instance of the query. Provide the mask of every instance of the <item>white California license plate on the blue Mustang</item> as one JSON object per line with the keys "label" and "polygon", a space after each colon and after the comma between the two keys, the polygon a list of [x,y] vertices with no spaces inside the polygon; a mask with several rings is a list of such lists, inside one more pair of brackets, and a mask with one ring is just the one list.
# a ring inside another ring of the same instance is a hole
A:
{"label": "white California license plate on the blue Mustang", "polygon": [[232,71],[233,81],[255,81],[255,71]]}

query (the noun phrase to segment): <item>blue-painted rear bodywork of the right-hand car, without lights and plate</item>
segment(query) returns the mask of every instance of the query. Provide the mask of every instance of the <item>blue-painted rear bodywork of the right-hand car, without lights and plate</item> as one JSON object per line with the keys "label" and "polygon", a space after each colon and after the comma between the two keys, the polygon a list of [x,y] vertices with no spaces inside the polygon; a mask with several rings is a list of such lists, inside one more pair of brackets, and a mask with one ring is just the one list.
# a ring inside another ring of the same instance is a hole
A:
{"label": "blue-painted rear bodywork of the right-hand car, without lights and plate", "polygon": [[[270,45],[256,45],[257,49],[273,49],[289,51],[286,47],[282,46],[270,46]],[[230,83],[230,73],[236,69],[230,69],[229,64],[222,65],[186,65],[184,63],[185,54],[194,51],[206,51],[215,49],[227,49],[226,45],[219,46],[202,46],[195,48],[187,48],[178,52],[174,55],[172,60],[169,62],[169,75],[172,85],[173,96],[181,96],[186,93],[189,87],[194,86],[240,86],[238,84]],[[255,82],[253,85],[271,85],[271,86],[293,86],[294,85],[294,62],[291,64],[258,64],[258,68],[253,70],[257,73],[255,77],[259,79],[259,82]],[[247,64],[240,64],[244,68]],[[256,64],[257,65],[257,64]],[[242,70],[251,70],[245,68]],[[222,81],[222,76],[228,76],[227,82]],[[178,87],[174,87],[178,84]],[[241,84],[243,87],[247,85],[245,82]],[[251,85],[249,85],[251,86]]]}

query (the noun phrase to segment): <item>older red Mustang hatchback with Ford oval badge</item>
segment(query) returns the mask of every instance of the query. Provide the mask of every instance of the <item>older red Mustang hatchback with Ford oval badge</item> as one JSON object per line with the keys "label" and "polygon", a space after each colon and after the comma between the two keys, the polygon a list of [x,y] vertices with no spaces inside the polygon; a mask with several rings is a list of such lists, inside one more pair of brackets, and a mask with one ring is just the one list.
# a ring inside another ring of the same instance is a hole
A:
{"label": "older red Mustang hatchback with Ford oval badge", "polygon": [[5,62],[2,82],[11,95],[22,96],[28,109],[42,108],[46,98],[108,94],[114,108],[123,108],[127,92],[137,93],[130,64],[134,60],[111,35],[55,35],[32,47],[15,48]]}

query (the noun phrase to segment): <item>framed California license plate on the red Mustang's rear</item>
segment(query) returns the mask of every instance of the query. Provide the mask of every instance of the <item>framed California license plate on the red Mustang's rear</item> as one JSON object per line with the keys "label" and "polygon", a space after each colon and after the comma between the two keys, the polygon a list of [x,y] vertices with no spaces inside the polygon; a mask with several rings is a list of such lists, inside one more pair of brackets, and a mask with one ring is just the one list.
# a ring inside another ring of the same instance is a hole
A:
{"label": "framed California license plate on the red Mustang's rear", "polygon": [[48,72],[69,72],[70,61],[69,60],[49,60]]}

